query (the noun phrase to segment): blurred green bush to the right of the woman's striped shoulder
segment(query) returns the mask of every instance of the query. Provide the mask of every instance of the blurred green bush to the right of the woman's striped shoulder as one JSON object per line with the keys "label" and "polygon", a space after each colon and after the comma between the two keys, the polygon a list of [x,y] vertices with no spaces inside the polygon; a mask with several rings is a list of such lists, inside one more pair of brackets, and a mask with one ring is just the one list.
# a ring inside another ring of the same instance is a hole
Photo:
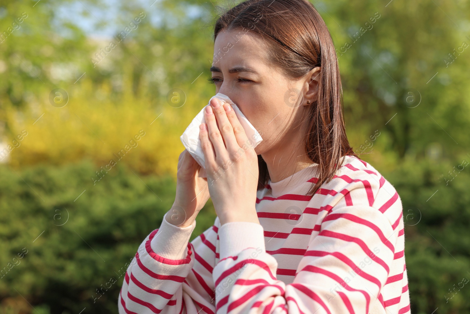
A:
{"label": "blurred green bush to the right of the woman's striped shoulder", "polygon": [[436,313],[470,313],[470,174],[468,166],[453,168],[461,161],[405,161],[396,171],[382,173],[403,202],[414,314],[438,307]]}

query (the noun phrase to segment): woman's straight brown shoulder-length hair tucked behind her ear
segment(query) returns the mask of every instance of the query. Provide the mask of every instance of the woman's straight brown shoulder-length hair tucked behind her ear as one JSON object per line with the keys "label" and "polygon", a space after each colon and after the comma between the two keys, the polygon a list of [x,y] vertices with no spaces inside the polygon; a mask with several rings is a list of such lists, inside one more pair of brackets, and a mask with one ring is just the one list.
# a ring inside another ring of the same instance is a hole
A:
{"label": "woman's straight brown shoulder-length hair tucked behind her ear", "polygon": [[[343,156],[357,157],[346,137],[338,59],[328,28],[308,0],[247,0],[219,16],[214,26],[214,42],[222,29],[230,32],[239,27],[266,38],[271,48],[270,61],[292,80],[321,66],[318,98],[305,115],[308,120],[305,152],[318,164],[318,180],[307,193],[313,196],[324,182],[334,177]],[[261,155],[258,169],[257,190],[261,190],[269,180]]]}

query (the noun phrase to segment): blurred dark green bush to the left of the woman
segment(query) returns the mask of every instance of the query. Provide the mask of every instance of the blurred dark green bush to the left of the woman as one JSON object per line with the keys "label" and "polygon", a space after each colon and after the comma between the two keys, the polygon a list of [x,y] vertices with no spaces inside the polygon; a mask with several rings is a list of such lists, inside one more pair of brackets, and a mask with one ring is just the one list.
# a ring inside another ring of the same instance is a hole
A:
{"label": "blurred dark green bush to the left of the woman", "polygon": [[[176,183],[118,164],[94,184],[97,170],[0,167],[0,313],[118,313],[126,263],[159,227]],[[191,239],[215,219],[210,201],[203,210]]]}

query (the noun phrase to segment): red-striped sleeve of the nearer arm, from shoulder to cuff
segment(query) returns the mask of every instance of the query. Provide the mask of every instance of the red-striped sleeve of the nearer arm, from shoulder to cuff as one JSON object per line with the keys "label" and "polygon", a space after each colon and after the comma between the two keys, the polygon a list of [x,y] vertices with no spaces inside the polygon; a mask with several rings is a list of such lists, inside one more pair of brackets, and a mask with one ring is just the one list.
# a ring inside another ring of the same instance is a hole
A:
{"label": "red-striped sleeve of the nearer arm, from shoulder to cuff", "polygon": [[217,313],[385,313],[378,298],[397,236],[379,210],[340,202],[310,237],[294,281],[285,284],[276,278],[261,225],[224,224],[213,272]]}

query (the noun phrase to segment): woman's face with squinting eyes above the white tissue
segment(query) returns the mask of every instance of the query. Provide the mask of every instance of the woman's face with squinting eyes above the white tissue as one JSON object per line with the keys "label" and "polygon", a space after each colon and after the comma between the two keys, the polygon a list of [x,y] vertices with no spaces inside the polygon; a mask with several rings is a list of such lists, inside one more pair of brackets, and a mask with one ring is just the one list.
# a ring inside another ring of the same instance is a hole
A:
{"label": "woman's face with squinting eyes above the white tissue", "polygon": [[211,68],[216,93],[227,95],[261,134],[258,155],[279,148],[283,140],[299,141],[298,122],[306,107],[297,95],[308,89],[306,79],[292,81],[270,63],[266,49],[263,39],[248,29],[222,30]]}

